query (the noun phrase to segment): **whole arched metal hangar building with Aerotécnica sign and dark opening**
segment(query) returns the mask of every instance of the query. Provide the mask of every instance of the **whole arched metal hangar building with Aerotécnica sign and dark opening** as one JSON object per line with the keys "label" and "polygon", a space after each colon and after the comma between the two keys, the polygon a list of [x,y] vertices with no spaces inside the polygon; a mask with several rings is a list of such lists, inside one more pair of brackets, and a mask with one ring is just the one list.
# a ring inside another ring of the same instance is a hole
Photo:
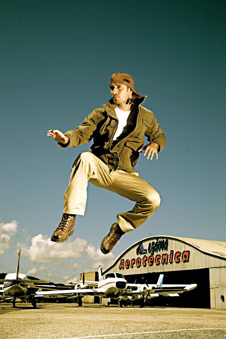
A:
{"label": "whole arched metal hangar building with Aerot\u00e9cnica sign and dark opening", "polygon": [[226,309],[226,242],[173,236],[145,238],[129,247],[105,272],[129,283],[197,284],[179,297],[151,299],[152,305]]}

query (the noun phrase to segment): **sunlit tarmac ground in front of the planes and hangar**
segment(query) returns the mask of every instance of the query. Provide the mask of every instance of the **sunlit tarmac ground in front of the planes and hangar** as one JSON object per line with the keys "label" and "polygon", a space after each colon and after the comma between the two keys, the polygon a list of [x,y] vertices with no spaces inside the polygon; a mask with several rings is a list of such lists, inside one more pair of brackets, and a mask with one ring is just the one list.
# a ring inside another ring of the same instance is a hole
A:
{"label": "sunlit tarmac ground in front of the planes and hangar", "polygon": [[225,310],[97,304],[0,305],[1,339],[225,339]]}

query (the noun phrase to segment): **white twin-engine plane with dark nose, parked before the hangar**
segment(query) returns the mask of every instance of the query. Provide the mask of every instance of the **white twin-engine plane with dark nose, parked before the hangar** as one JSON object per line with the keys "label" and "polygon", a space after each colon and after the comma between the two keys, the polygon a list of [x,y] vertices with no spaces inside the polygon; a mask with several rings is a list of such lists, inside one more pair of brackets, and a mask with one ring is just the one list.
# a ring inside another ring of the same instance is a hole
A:
{"label": "white twin-engine plane with dark nose, parked before the hangar", "polygon": [[[85,281],[83,279],[75,285],[74,290],[58,290],[58,291],[37,291],[36,295],[51,295],[51,294],[68,294],[74,293],[78,297],[78,304],[82,306],[81,298],[84,295],[98,296],[100,298],[113,298],[119,300],[119,306],[126,303],[127,300],[132,300],[133,297],[140,297],[144,302],[148,297],[157,297],[159,295],[177,294],[186,291],[191,291],[196,284],[191,285],[162,285],[163,275],[159,276],[158,283],[150,284],[129,284],[120,273],[109,272],[102,275],[101,266],[98,268],[98,281]],[[90,288],[97,286],[97,288]]]}

